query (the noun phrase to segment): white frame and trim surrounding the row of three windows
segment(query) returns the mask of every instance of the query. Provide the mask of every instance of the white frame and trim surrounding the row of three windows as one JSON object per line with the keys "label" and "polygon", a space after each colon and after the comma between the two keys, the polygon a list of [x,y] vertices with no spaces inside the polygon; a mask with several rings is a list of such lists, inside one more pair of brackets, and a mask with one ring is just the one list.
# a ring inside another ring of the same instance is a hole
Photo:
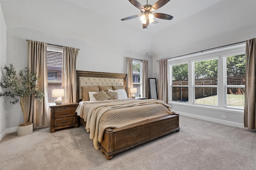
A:
{"label": "white frame and trim surrounding the row of three windows", "polygon": [[[195,109],[196,111],[201,111],[201,109],[204,109],[205,111],[216,111],[218,113],[219,111],[224,111],[227,113],[236,113],[236,114],[244,114],[243,109],[233,109],[233,108],[227,108],[224,106],[224,71],[223,71],[223,59],[222,57],[230,56],[233,54],[241,54],[245,53],[245,46],[246,44],[238,44],[238,45],[230,45],[228,47],[204,51],[203,53],[195,53],[192,55],[185,55],[182,57],[170,57],[168,59],[168,65],[172,64],[181,64],[188,62],[188,103],[186,102],[174,102],[170,99],[171,91],[168,91],[169,101],[168,103],[171,106],[176,107],[183,107],[184,109]],[[193,104],[193,86],[192,86],[192,62],[195,61],[202,61],[207,59],[214,59],[218,58],[218,106],[210,106],[210,105],[199,105],[199,104]],[[168,67],[169,69],[169,67]],[[170,74],[170,70],[168,70],[168,74]],[[168,78],[170,78],[170,75],[168,75]],[[170,80],[168,80],[168,86],[170,87]],[[170,89],[170,88],[169,88]],[[189,112],[188,112],[189,113]]]}

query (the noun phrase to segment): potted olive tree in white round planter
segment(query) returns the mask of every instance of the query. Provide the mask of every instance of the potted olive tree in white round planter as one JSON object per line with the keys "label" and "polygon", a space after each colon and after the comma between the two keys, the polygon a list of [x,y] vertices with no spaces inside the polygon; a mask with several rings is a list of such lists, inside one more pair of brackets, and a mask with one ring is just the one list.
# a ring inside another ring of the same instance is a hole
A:
{"label": "potted olive tree in white round planter", "polygon": [[12,98],[10,104],[20,104],[24,115],[24,124],[18,126],[17,134],[19,136],[28,135],[33,132],[33,124],[26,122],[26,102],[28,97],[32,95],[34,95],[38,101],[42,102],[44,93],[37,88],[37,82],[40,78],[36,76],[36,72],[32,72],[27,67],[20,70],[18,76],[12,64],[10,64],[10,67],[4,66],[4,70],[5,73],[0,82],[0,86],[2,88],[7,88],[10,91],[1,92],[0,97],[10,96]]}

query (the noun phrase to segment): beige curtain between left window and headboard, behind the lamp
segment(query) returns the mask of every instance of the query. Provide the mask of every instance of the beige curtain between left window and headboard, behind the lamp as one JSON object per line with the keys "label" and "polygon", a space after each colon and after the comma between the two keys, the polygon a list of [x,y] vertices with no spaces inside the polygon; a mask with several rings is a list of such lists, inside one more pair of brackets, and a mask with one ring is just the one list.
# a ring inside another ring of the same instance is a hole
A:
{"label": "beige curtain between left window and headboard, behind the lamp", "polygon": [[64,103],[76,102],[76,58],[79,49],[63,47],[62,63],[62,88],[65,96],[62,97]]}

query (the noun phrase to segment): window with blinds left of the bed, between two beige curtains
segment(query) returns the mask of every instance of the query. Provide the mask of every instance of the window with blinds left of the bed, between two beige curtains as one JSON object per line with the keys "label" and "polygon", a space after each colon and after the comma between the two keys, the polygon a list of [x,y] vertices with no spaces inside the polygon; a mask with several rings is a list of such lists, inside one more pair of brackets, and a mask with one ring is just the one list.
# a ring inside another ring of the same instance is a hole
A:
{"label": "window with blinds left of the bed, between two beige curtains", "polygon": [[62,55],[60,48],[47,47],[48,103],[54,103],[52,89],[62,88]]}

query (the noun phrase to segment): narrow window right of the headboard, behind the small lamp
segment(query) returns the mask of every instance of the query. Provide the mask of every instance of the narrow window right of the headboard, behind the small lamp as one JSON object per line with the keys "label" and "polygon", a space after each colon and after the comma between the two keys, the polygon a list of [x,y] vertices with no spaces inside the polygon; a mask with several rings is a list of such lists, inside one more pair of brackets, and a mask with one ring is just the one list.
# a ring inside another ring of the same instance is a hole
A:
{"label": "narrow window right of the headboard, behind the small lamp", "polygon": [[136,97],[142,96],[142,62],[132,61],[132,80],[133,87],[137,88]]}

